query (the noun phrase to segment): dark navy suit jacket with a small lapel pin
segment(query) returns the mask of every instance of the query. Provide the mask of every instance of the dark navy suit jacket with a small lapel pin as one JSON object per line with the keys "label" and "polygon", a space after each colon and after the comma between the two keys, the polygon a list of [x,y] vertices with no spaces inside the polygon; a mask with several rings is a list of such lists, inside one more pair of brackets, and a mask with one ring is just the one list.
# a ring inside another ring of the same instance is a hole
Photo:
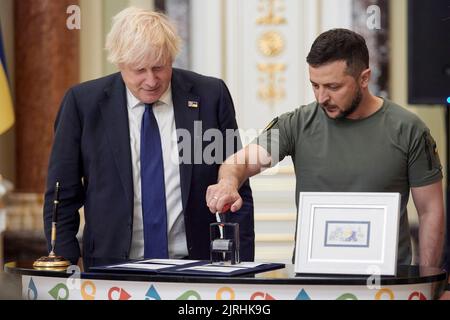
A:
{"label": "dark navy suit jacket with a small lapel pin", "polygon": [[[211,141],[203,141],[201,132],[194,135],[195,121],[201,121],[203,132],[218,128],[224,141],[229,140],[225,139],[226,129],[236,129],[237,123],[230,93],[222,80],[174,68],[171,88],[176,127],[191,133],[190,143],[197,150],[197,158]],[[192,103],[189,107],[190,101],[197,102],[198,107],[192,107]],[[223,158],[230,150],[240,148],[240,140],[233,140],[233,148],[224,146]],[[190,156],[193,160],[195,152]],[[210,258],[209,224],[215,222],[215,216],[206,206],[205,195],[207,187],[217,181],[219,166],[220,163],[180,164],[191,259]],[[84,206],[84,263],[92,266],[127,260],[133,230],[133,178],[126,88],[120,73],[79,84],[68,90],[62,101],[55,122],[45,193],[48,242],[56,181],[61,185],[56,254],[73,263],[80,257],[76,234],[80,223],[78,210]],[[241,260],[253,261],[253,199],[248,181],[240,194],[243,207],[226,216],[228,221],[240,224]]]}

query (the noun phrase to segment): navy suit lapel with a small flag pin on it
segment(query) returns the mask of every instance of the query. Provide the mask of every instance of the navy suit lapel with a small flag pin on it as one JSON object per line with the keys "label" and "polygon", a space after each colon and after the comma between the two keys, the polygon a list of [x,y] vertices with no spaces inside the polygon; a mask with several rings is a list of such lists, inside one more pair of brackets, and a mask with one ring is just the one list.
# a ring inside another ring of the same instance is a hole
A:
{"label": "navy suit lapel with a small flag pin on it", "polygon": [[[181,78],[180,71],[173,69],[172,74],[172,100],[177,129],[188,130],[191,135],[191,159],[189,163],[180,164],[181,197],[183,210],[189,198],[192,180],[192,168],[194,159],[194,144],[197,138],[194,136],[194,122],[199,120],[200,97],[191,92],[192,83]],[[200,133],[201,134],[201,133]],[[178,141],[180,135],[178,134]],[[201,146],[200,146],[201,150]],[[180,151],[180,150],[179,150]],[[186,152],[186,150],[184,151]]]}

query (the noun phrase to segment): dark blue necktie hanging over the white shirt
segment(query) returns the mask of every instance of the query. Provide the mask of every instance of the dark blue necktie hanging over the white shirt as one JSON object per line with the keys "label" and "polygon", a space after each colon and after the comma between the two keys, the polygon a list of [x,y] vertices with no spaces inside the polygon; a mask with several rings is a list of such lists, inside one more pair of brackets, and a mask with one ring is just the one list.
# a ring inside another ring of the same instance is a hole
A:
{"label": "dark blue necktie hanging over the white shirt", "polygon": [[141,127],[141,199],[144,258],[168,258],[167,209],[161,137],[152,105],[145,105]]}

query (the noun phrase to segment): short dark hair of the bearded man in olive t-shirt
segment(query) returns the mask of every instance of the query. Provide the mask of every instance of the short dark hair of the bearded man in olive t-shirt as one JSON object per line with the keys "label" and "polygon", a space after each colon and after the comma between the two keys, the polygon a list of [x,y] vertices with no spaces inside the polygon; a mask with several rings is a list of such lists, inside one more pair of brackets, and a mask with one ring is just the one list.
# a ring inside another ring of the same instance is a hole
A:
{"label": "short dark hair of the bearded man in olive t-shirt", "polygon": [[345,60],[347,73],[357,76],[369,67],[369,50],[364,38],[347,29],[331,29],[319,35],[306,61],[313,67]]}

